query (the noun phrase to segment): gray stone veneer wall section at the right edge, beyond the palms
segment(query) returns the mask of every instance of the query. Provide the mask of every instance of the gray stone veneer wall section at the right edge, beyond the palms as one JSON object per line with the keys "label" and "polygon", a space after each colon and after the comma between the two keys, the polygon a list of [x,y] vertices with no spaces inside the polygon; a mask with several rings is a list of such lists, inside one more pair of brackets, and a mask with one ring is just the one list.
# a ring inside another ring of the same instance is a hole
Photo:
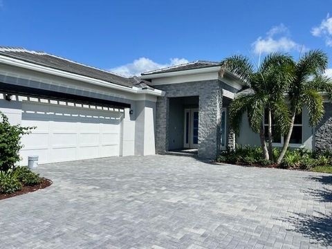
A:
{"label": "gray stone veneer wall section at the right edge, beyond the palms", "polygon": [[332,151],[332,103],[324,103],[325,114],[315,129],[315,148]]}

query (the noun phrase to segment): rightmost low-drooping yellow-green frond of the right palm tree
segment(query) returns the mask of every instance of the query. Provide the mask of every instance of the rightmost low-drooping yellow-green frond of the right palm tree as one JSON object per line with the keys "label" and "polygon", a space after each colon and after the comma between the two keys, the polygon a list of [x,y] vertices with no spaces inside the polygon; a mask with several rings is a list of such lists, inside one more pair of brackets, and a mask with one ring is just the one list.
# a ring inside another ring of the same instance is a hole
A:
{"label": "rightmost low-drooping yellow-green frond of the right palm tree", "polygon": [[314,89],[305,89],[302,93],[302,104],[308,109],[309,124],[314,127],[324,115],[324,101]]}

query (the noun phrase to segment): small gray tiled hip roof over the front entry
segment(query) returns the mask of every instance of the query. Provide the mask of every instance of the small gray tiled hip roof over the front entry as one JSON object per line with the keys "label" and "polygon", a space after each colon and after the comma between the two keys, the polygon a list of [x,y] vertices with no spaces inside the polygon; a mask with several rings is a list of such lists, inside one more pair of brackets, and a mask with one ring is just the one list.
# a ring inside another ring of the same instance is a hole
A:
{"label": "small gray tiled hip roof over the front entry", "polygon": [[220,62],[208,62],[208,61],[202,61],[198,60],[196,62],[189,62],[186,64],[181,64],[177,66],[169,66],[167,68],[161,68],[154,71],[149,71],[142,73],[142,75],[154,75],[157,73],[170,73],[170,72],[176,72],[176,71],[185,71],[185,70],[191,70],[191,69],[198,69],[198,68],[207,68],[211,66],[219,66]]}

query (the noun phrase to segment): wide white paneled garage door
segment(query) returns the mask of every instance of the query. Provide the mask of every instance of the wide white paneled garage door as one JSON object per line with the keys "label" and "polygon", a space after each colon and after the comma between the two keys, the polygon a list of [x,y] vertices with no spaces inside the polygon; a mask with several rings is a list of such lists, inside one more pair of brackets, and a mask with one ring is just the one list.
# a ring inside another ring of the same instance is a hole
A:
{"label": "wide white paneled garage door", "polygon": [[40,102],[24,102],[22,126],[37,127],[24,136],[22,165],[119,156],[122,113]]}

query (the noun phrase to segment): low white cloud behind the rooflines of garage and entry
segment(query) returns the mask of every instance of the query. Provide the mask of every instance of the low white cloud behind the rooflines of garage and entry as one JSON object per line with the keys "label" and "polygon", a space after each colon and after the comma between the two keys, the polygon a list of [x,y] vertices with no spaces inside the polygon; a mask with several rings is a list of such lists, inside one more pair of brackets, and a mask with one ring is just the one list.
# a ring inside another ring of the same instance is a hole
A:
{"label": "low white cloud behind the rooflines of garage and entry", "polygon": [[140,57],[139,59],[135,59],[133,62],[129,64],[125,64],[122,66],[117,66],[115,68],[109,69],[109,71],[113,73],[118,73],[124,76],[133,76],[140,75],[140,73],[153,71],[160,68],[165,68],[167,66],[176,66],[179,64],[187,63],[187,59],[183,58],[171,58],[169,59],[169,63],[167,64],[159,64],[154,62],[153,60],[145,57]]}

